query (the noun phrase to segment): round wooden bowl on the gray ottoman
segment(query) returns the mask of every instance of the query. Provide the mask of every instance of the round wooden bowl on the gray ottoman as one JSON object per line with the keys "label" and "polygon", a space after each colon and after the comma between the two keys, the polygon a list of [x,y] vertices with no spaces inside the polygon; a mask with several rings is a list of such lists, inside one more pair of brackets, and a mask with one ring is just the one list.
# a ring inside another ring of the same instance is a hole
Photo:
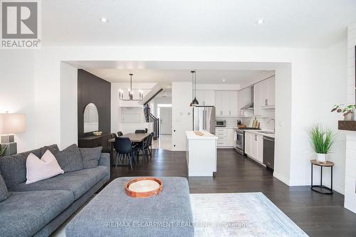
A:
{"label": "round wooden bowl on the gray ottoman", "polygon": [[[147,190],[149,189],[148,186],[140,185],[140,184],[144,184],[144,182],[142,181],[155,181],[158,184],[158,186],[155,187],[154,189]],[[139,182],[140,184],[137,182]],[[137,189],[136,190],[132,188],[130,189],[130,185],[135,183],[137,183]],[[162,181],[160,179],[153,178],[153,177],[142,177],[142,178],[132,179],[128,181],[127,184],[125,185],[125,191],[128,196],[131,196],[133,198],[147,198],[150,196],[156,196],[162,191]]]}

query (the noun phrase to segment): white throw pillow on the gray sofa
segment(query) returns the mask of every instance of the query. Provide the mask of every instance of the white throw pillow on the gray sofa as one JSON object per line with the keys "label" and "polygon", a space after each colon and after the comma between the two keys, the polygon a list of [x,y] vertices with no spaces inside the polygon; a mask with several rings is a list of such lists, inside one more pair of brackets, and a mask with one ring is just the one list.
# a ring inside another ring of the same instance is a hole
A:
{"label": "white throw pillow on the gray sofa", "polygon": [[26,160],[26,184],[31,184],[43,179],[49,179],[58,174],[64,174],[56,157],[47,150],[39,159],[34,154],[28,154]]}

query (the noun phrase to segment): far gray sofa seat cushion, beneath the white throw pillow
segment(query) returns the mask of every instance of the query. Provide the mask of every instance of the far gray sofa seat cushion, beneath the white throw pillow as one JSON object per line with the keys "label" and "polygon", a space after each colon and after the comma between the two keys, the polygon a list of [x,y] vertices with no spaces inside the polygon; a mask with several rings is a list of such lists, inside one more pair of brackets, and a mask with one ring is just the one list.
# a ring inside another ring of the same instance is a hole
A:
{"label": "far gray sofa seat cushion, beneath the white throw pillow", "polygon": [[73,191],[76,200],[105,176],[108,176],[108,168],[98,166],[60,174],[32,184],[21,183],[14,186],[11,191],[70,190]]}

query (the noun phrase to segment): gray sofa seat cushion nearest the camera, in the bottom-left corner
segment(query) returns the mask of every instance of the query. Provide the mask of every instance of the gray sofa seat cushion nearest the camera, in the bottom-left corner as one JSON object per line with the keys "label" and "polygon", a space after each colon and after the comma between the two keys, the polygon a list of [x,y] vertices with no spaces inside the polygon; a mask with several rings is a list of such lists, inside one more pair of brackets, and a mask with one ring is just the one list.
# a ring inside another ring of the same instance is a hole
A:
{"label": "gray sofa seat cushion nearest the camera, in the bottom-left corner", "polygon": [[0,202],[1,236],[33,236],[73,201],[66,190],[12,192]]}

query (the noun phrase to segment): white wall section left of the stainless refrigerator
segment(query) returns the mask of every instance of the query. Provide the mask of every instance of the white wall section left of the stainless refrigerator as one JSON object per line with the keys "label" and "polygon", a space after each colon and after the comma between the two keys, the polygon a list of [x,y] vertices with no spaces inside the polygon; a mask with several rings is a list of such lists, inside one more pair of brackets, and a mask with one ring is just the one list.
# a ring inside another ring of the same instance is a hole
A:
{"label": "white wall section left of the stainless refrigerator", "polygon": [[172,151],[185,151],[185,131],[192,131],[192,83],[172,82]]}

